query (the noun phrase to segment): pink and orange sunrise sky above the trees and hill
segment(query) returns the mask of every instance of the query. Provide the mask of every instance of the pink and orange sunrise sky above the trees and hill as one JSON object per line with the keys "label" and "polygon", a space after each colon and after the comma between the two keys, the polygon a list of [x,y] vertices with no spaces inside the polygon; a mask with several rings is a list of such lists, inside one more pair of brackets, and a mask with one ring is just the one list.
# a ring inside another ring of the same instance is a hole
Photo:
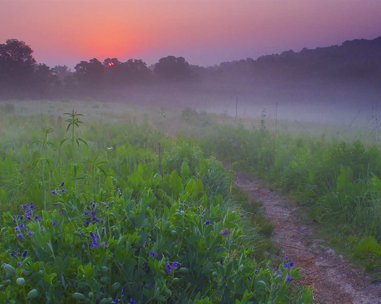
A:
{"label": "pink and orange sunrise sky above the trees and hill", "polygon": [[209,66],[381,36],[381,1],[0,1],[0,43],[37,62],[184,57]]}

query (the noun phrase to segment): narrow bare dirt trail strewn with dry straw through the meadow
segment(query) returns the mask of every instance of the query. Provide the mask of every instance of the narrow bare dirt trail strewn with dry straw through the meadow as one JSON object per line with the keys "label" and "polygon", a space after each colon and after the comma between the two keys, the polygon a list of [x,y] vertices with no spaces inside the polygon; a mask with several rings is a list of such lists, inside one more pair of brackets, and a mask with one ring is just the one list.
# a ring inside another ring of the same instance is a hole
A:
{"label": "narrow bare dirt trail strewn with dry straw through the meadow", "polygon": [[273,241],[300,268],[303,279],[299,282],[312,285],[316,303],[381,304],[381,283],[371,283],[335,250],[319,244],[321,240],[313,237],[316,223],[302,223],[295,203],[247,173],[236,172],[235,184],[245,192],[249,190],[251,198],[263,201],[264,215],[275,223]]}

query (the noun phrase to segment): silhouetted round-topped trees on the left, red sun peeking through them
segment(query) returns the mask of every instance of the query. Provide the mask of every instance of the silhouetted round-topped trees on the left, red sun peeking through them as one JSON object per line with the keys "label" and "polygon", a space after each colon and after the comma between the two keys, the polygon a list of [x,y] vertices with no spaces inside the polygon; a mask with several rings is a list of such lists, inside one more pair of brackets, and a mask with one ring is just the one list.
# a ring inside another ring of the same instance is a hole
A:
{"label": "silhouetted round-topped trees on the left, red sun peeking through them", "polygon": [[153,70],[142,59],[120,62],[117,58],[80,61],[72,71],[66,65],[37,63],[24,41],[8,39],[0,44],[0,99],[83,97],[132,85],[189,81],[195,77],[183,57],[168,56]]}

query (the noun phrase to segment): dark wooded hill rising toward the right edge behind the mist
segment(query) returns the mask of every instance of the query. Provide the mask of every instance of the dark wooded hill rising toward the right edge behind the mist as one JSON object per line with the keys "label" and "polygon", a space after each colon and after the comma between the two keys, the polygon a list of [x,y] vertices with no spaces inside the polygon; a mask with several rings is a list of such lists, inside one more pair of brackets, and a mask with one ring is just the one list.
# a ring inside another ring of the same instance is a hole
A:
{"label": "dark wooded hill rising toward the right edge behind the mist", "polygon": [[370,85],[381,84],[381,36],[373,39],[345,41],[340,46],[304,48],[281,54],[264,55],[223,62],[215,70],[220,74],[238,74],[252,79],[285,81],[342,82],[360,81]]}

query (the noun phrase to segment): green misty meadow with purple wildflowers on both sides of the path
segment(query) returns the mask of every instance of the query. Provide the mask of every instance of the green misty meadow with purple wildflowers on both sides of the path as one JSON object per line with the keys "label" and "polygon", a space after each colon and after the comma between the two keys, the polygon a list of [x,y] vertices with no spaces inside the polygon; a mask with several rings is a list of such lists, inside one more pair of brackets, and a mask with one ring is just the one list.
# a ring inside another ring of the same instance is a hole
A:
{"label": "green misty meadow with purple wildflowers on both sides of the path", "polygon": [[362,125],[314,134],[264,111],[70,100],[1,109],[2,301],[314,302],[296,263],[264,256],[252,202],[219,161],[293,193],[378,268],[381,156]]}

